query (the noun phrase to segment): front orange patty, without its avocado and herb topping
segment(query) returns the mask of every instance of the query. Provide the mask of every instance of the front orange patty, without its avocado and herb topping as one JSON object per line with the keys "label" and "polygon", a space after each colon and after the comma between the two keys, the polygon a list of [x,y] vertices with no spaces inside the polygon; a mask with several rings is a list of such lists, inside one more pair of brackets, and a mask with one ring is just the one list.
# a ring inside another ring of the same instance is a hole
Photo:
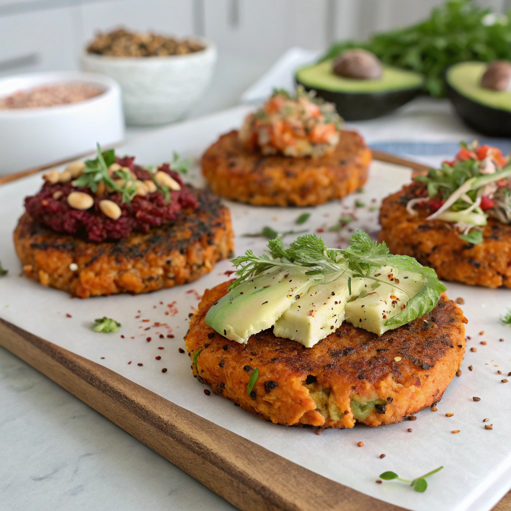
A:
{"label": "front orange patty, without its avocado and herb topping", "polygon": [[[192,360],[202,350],[193,372],[267,421],[322,428],[400,422],[439,401],[463,360],[467,320],[445,295],[429,314],[380,337],[343,322],[305,348],[272,329],[239,344],[208,327],[205,315],[228,285],[206,290],[192,317],[185,337]],[[259,376],[248,394],[255,368]]]}

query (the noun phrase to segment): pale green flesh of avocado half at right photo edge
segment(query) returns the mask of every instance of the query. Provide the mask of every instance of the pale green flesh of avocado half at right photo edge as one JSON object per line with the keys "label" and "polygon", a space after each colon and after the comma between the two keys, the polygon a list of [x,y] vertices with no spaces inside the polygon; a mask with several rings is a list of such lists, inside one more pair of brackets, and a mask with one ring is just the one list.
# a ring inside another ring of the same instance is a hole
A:
{"label": "pale green flesh of avocado half at right photo edge", "polygon": [[461,62],[451,66],[446,75],[449,85],[476,103],[499,110],[511,111],[511,91],[491,90],[481,87],[481,77],[486,71],[485,62]]}

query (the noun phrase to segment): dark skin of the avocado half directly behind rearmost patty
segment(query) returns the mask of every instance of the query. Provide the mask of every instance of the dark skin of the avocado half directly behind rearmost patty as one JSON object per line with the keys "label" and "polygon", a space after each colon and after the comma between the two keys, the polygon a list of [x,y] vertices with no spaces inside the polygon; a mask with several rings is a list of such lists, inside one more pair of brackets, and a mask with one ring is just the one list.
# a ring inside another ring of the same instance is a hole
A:
{"label": "dark skin of the avocado half directly behind rearmost patty", "polygon": [[386,115],[421,94],[422,87],[390,90],[384,92],[334,92],[332,90],[312,89],[295,78],[305,90],[315,90],[320,98],[334,103],[337,113],[345,121],[366,121]]}

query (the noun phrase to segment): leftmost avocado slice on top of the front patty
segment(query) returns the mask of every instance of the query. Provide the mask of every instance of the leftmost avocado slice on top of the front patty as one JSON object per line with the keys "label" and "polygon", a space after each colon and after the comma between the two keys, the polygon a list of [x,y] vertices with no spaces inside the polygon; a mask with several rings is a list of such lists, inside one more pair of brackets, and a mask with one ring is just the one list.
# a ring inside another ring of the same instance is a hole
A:
{"label": "leftmost avocado slice on top of the front patty", "polygon": [[275,321],[313,284],[307,268],[272,268],[222,296],[206,314],[206,324],[231,341],[246,343]]}

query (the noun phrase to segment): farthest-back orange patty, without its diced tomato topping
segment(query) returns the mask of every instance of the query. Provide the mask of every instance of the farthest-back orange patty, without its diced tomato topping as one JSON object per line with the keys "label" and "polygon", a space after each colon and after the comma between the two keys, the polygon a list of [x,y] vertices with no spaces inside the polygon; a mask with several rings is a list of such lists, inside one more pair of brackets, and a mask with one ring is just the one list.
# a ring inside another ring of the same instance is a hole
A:
{"label": "farthest-back orange patty, without its diced tomato topping", "polygon": [[341,131],[328,156],[292,158],[251,152],[234,130],[206,150],[202,173],[211,189],[228,199],[259,206],[314,206],[362,187],[370,161],[370,150],[354,131]]}

